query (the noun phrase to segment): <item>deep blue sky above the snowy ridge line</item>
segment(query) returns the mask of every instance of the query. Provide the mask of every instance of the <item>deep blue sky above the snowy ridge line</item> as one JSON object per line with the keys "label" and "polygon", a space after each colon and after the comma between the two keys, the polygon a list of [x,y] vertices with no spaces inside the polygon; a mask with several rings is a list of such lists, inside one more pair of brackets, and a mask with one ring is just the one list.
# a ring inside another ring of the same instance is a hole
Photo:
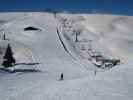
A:
{"label": "deep blue sky above the snowy ridge line", "polygon": [[0,0],[0,11],[102,10],[133,15],[133,0]]}

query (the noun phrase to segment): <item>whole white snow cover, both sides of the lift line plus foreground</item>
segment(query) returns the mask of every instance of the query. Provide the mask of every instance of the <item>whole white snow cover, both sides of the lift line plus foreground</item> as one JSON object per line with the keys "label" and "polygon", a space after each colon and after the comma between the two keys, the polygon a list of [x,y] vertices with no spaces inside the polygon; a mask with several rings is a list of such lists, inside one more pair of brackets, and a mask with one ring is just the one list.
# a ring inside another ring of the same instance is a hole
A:
{"label": "whole white snow cover, both sides of the lift line plus foreground", "polygon": [[[0,71],[0,100],[132,100],[132,63],[95,75],[96,67],[73,49],[74,37],[61,26],[60,18],[69,19],[72,28],[81,28],[79,40],[93,40],[96,51],[125,62],[132,60],[132,17],[3,13],[1,34],[11,43],[17,63],[40,64],[15,66],[36,72]],[[24,31],[28,26],[40,30]],[[64,80],[58,81],[61,73]]]}

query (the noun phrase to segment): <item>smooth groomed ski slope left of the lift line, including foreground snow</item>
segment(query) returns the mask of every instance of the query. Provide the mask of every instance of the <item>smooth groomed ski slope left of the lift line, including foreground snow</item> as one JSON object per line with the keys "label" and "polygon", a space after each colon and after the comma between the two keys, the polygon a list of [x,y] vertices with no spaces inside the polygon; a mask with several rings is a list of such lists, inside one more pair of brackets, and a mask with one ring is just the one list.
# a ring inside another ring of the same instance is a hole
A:
{"label": "smooth groomed ski slope left of the lift line, including foreground snow", "polygon": [[[84,16],[87,20],[91,19],[91,15]],[[109,16],[106,16],[109,20],[116,18]],[[133,64],[116,66],[95,76],[95,66],[90,62],[88,65],[82,64],[82,60],[73,59],[64,50],[57,34],[58,22],[53,14],[4,13],[0,19],[6,20],[1,28],[10,40],[17,62],[40,63],[16,66],[35,68],[39,72],[0,72],[0,100],[133,99]],[[40,28],[41,31],[24,31],[27,26]],[[59,81],[61,73],[64,73],[63,81]]]}

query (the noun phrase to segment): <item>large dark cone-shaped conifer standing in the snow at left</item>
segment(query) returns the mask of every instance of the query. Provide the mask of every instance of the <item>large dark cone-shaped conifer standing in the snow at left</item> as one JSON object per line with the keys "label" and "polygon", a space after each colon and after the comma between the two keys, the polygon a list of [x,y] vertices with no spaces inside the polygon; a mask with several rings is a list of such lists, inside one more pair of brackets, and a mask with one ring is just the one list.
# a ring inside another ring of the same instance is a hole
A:
{"label": "large dark cone-shaped conifer standing in the snow at left", "polygon": [[7,68],[7,67],[12,67],[15,64],[15,58],[13,57],[13,52],[10,44],[8,44],[5,55],[3,57],[4,62],[2,65]]}

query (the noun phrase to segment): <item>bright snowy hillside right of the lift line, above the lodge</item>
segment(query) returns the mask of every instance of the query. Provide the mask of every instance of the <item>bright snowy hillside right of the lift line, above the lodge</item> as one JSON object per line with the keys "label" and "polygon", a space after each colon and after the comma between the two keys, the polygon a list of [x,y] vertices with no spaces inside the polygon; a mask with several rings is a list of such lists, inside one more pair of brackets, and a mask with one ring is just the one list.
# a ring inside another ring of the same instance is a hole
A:
{"label": "bright snowy hillside right of the lift line, above the lodge", "polygon": [[87,44],[92,40],[95,51],[120,58],[124,63],[132,60],[132,16],[60,14],[59,21],[64,25],[64,36],[68,39],[74,41],[72,30],[80,28],[79,41]]}

